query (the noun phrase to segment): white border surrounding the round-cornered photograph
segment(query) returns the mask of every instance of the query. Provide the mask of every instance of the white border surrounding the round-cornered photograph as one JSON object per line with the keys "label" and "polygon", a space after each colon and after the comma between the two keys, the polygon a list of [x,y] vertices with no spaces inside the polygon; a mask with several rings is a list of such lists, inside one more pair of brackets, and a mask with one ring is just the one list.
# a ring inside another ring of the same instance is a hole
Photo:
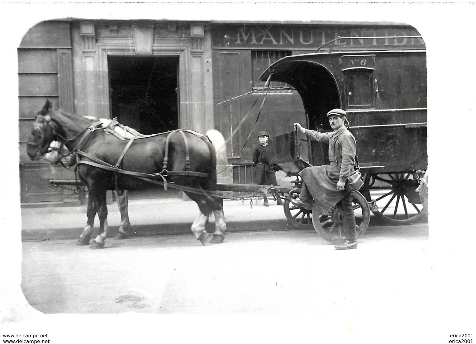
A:
{"label": "white border surrounding the round-cornered photograph", "polygon": [[[362,343],[448,343],[449,334],[473,333],[475,321],[474,254],[475,225],[471,220],[473,194],[473,142],[471,123],[474,118],[475,91],[474,47],[475,5],[471,3],[409,3],[409,2],[150,2],[77,1],[41,3],[0,3],[2,49],[2,127],[1,137],[1,238],[0,248],[0,335],[4,333],[43,333],[54,328],[62,343],[129,343],[137,340],[134,329],[149,335],[150,343],[181,343],[185,340],[208,343],[254,343],[291,341],[308,334],[312,343],[339,343],[335,328],[325,319],[288,317],[205,317],[200,320],[212,326],[194,325],[196,318],[143,315],[118,315],[111,319],[102,315],[41,315],[32,311],[20,290],[21,243],[18,150],[18,77],[17,47],[22,36],[40,20],[59,18],[85,19],[153,19],[169,20],[335,20],[404,22],[414,26],[427,47],[428,68],[428,162],[431,168],[429,189],[430,243],[433,281],[428,290],[434,300],[427,317],[420,319],[421,333],[407,333],[394,324],[395,332],[383,333],[374,328],[349,335]],[[451,130],[451,132],[450,132]],[[453,131],[455,131],[453,133]],[[451,134],[452,133],[452,134]],[[11,134],[5,135],[5,134]],[[469,211],[468,211],[469,210]],[[402,252],[402,255],[405,254]],[[378,257],[376,257],[378,259]],[[360,264],[365,264],[364,262]],[[378,293],[378,291],[377,291]],[[418,300],[423,295],[407,295]],[[427,296],[427,295],[426,295]],[[401,315],[412,315],[408,309]],[[373,320],[380,323],[383,315]],[[66,319],[62,321],[61,319]],[[132,319],[132,320],[131,320]],[[6,322],[7,320],[7,322]],[[13,320],[13,321],[11,321]],[[131,323],[132,321],[132,323]],[[320,322],[320,323],[319,323]],[[317,323],[319,330],[317,330]],[[94,324],[97,324],[94,325]],[[138,326],[136,327],[135,324]],[[157,327],[160,324],[160,329]],[[427,332],[428,324],[434,329]],[[83,326],[84,325],[84,326]],[[149,325],[149,326],[148,326]],[[100,330],[109,327],[109,330]],[[389,326],[391,327],[391,326]],[[385,330],[387,330],[387,327]],[[220,329],[221,328],[221,329]],[[243,330],[243,329],[246,330]],[[259,335],[250,335],[258,331]],[[158,333],[157,331],[163,331]],[[301,331],[299,333],[295,331]],[[104,333],[107,332],[107,335]],[[104,336],[104,337],[101,337]],[[99,339],[102,338],[102,341]],[[155,338],[155,339],[154,339]],[[160,338],[158,340],[157,338]],[[253,339],[254,338],[254,339]],[[1,340],[1,339],[0,339]],[[59,341],[51,342],[59,344]]]}

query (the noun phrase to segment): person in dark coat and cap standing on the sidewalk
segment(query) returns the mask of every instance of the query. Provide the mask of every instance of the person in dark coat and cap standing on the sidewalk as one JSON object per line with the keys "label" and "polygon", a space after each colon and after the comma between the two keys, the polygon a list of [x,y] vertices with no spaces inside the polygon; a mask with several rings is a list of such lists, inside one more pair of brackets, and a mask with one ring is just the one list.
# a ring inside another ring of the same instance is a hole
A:
{"label": "person in dark coat and cap standing on the sidewalk", "polygon": [[[259,145],[253,151],[253,164],[255,165],[254,182],[258,185],[278,185],[276,181],[277,168],[269,164],[269,135],[266,131],[258,133]],[[277,199],[278,206],[282,206],[281,198]],[[269,206],[268,197],[264,196],[264,206]]]}

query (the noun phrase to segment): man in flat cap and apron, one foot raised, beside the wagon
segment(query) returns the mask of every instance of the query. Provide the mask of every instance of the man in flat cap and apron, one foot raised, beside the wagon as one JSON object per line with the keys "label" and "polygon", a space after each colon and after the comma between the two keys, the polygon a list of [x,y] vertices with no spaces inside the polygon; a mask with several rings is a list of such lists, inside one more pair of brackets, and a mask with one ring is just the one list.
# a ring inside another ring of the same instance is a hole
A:
{"label": "man in flat cap and apron, one foot raised, beside the wagon", "polygon": [[[303,179],[299,198],[291,202],[300,207],[312,209],[314,197],[317,209],[327,214],[336,205],[342,217],[342,230],[346,241],[335,246],[338,250],[357,248],[356,219],[352,209],[352,195],[346,190],[347,177],[354,169],[356,158],[356,139],[347,130],[346,111],[335,108],[327,112],[333,129],[330,133],[320,133],[303,128],[295,123],[297,130],[311,140],[329,143],[330,165],[311,166],[299,172]],[[347,187],[348,189],[348,187]]]}

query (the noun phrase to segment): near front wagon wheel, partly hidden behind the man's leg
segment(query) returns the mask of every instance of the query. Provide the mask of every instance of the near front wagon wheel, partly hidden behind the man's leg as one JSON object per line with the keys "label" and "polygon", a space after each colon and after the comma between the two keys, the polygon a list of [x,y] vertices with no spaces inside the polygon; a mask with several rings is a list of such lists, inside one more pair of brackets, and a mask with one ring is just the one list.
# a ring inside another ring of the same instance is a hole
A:
{"label": "near front wagon wheel, partly hidden behind the man's leg", "polygon": [[[365,197],[358,191],[352,193],[352,203],[354,215],[356,217],[357,238],[364,234],[367,230],[370,221],[370,208]],[[313,206],[312,221],[314,229],[324,239],[332,244],[342,244],[346,241],[342,233],[342,218],[336,206],[327,214],[319,214],[316,209],[316,204]]]}

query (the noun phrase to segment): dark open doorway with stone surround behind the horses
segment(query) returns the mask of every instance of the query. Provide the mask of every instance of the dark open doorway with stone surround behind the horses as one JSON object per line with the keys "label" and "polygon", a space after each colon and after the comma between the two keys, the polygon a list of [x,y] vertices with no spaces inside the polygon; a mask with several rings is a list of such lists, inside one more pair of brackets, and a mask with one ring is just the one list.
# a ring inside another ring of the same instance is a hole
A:
{"label": "dark open doorway with stone surround behind the horses", "polygon": [[[178,56],[108,56],[111,118],[145,135],[178,129],[178,61]],[[129,192],[129,199],[164,197],[181,192]]]}

